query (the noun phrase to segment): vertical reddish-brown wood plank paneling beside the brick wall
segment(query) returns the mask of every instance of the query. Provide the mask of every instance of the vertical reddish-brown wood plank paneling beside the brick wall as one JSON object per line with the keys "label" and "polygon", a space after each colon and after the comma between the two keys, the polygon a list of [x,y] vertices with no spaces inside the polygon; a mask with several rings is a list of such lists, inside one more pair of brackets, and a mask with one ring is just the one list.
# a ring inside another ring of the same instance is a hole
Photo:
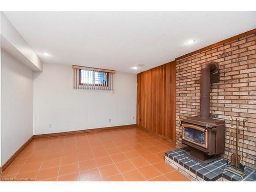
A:
{"label": "vertical reddish-brown wood plank paneling beside the brick wall", "polygon": [[137,125],[175,140],[176,61],[137,74]]}

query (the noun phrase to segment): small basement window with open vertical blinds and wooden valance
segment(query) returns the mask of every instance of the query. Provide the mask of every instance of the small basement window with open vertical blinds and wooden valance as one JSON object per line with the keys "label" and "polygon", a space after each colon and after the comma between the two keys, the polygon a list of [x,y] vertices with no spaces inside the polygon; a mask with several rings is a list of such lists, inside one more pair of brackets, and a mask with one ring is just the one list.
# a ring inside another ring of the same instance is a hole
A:
{"label": "small basement window with open vertical blinds and wooden valance", "polygon": [[108,69],[72,66],[74,89],[109,90],[114,93],[115,71]]}

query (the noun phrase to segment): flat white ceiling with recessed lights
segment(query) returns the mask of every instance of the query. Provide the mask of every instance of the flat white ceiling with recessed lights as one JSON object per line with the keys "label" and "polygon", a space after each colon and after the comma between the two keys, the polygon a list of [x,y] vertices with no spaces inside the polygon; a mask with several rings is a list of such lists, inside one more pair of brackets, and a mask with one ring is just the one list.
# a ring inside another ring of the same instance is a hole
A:
{"label": "flat white ceiling with recessed lights", "polygon": [[[4,13],[42,62],[128,73],[256,27],[256,12]],[[186,45],[189,39],[196,43]],[[144,67],[131,69],[138,64]]]}

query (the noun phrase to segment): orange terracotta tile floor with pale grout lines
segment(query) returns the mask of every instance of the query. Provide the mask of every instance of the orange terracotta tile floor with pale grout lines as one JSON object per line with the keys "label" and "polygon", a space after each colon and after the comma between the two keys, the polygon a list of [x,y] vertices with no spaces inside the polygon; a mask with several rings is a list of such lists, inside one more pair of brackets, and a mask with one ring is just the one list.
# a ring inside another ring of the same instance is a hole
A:
{"label": "orange terracotta tile floor with pale grout lines", "polygon": [[175,148],[136,126],[34,139],[0,177],[35,181],[189,181],[164,162]]}

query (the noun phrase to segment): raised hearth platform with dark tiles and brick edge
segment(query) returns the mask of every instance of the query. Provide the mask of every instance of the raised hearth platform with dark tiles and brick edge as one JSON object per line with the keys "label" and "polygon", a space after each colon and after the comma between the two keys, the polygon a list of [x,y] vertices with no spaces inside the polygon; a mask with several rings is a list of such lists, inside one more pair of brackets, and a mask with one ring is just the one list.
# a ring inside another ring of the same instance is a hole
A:
{"label": "raised hearth platform with dark tiles and brick edge", "polygon": [[187,152],[189,147],[167,151],[165,163],[173,166],[192,181],[256,181],[256,172],[251,168],[245,168],[246,176],[242,179],[224,170],[226,159],[220,157],[212,163],[202,164],[188,156]]}

